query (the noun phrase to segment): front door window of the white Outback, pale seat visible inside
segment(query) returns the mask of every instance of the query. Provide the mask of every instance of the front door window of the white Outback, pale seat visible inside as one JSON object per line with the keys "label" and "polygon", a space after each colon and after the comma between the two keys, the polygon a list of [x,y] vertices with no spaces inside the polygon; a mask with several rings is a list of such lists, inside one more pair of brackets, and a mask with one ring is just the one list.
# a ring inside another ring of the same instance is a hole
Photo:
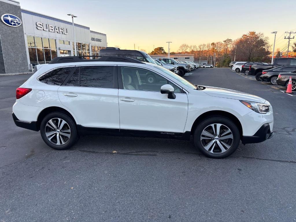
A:
{"label": "front door window of the white Outback, pale seat visible inside", "polygon": [[160,92],[161,86],[170,84],[174,87],[174,92],[181,93],[181,89],[178,86],[162,76],[146,69],[122,66],[120,67],[120,74],[122,77],[123,89]]}

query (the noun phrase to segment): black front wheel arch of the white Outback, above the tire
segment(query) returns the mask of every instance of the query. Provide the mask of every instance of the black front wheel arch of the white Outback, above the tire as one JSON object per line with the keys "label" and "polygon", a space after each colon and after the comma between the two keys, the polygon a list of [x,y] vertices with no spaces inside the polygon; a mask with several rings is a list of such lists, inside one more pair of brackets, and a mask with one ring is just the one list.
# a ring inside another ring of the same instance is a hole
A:
{"label": "black front wheel arch of the white Outback, above the tire", "polygon": [[214,117],[214,116],[226,117],[226,118],[229,118],[231,121],[233,121],[234,124],[238,126],[239,134],[240,134],[240,137],[242,138],[242,124],[240,123],[239,119],[235,115],[231,114],[230,112],[226,112],[226,111],[222,111],[222,110],[211,110],[211,111],[205,112],[205,113],[201,114],[199,117],[197,117],[191,127],[191,134],[192,135],[194,134],[195,128],[202,120],[204,120],[206,118]]}

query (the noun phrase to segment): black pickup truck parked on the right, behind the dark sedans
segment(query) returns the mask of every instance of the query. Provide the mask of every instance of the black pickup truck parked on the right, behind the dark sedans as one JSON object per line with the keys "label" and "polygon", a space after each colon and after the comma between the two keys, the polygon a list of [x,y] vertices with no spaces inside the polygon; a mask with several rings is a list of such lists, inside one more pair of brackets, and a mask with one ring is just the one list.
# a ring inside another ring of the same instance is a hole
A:
{"label": "black pickup truck parked on the right, behind the dark sedans", "polygon": [[276,58],[274,59],[273,65],[252,65],[249,70],[251,72],[251,75],[256,75],[257,73],[262,73],[263,70],[283,65],[296,65],[296,58]]}

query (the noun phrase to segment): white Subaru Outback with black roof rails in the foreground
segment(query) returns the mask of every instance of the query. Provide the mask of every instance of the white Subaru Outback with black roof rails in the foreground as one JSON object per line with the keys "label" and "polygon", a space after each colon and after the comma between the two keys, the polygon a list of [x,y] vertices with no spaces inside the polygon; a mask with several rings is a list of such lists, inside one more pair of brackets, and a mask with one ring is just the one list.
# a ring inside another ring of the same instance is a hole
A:
{"label": "white Subaru Outback with black roof rails in the foreground", "polygon": [[[147,82],[147,75],[157,81]],[[213,158],[273,135],[271,104],[258,96],[196,86],[152,63],[128,57],[57,57],[16,90],[17,126],[41,132],[54,149],[79,135],[189,140]]]}

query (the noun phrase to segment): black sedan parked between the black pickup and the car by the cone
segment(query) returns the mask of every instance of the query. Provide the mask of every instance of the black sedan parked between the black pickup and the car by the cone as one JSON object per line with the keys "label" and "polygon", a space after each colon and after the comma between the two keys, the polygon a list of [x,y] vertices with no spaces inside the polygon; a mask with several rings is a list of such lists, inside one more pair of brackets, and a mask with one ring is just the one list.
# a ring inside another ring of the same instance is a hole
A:
{"label": "black sedan parked between the black pickup and the car by the cone", "polygon": [[260,73],[257,73],[256,80],[263,81],[263,82],[270,82],[272,85],[277,85],[276,79],[278,78],[279,73],[289,73],[294,70],[296,70],[296,66],[287,65],[287,66],[275,67],[272,69],[264,70],[262,72],[262,75],[260,75]]}

